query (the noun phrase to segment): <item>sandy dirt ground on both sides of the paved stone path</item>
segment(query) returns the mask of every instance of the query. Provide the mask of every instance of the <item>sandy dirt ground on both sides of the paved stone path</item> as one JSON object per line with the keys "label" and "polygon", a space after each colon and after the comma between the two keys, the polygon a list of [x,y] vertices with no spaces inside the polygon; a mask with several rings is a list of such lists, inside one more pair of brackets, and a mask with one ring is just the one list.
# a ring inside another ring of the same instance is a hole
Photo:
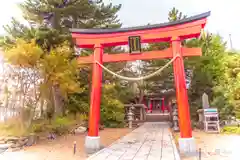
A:
{"label": "sandy dirt ground on both sides of the paved stone path", "polygon": [[[100,131],[101,144],[108,146],[132,130],[128,128],[107,129]],[[21,151],[6,152],[0,155],[0,160],[84,160],[85,134],[67,135],[56,140],[42,140],[35,146]],[[210,134],[195,130],[193,136],[197,148],[201,148],[201,160],[239,160],[239,135]],[[77,152],[73,155],[73,143],[77,142]],[[182,160],[200,160],[199,154],[182,156]]]}

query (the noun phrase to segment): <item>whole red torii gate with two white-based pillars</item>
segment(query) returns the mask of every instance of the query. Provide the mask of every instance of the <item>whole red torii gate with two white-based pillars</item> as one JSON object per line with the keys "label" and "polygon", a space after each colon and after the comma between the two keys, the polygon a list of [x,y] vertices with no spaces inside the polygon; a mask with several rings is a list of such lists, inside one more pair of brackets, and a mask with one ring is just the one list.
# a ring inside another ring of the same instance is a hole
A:
{"label": "whole red torii gate with two white-based pillars", "polygon": [[[78,62],[81,64],[93,64],[89,131],[85,141],[85,147],[88,150],[96,151],[100,148],[100,137],[98,132],[100,121],[102,67],[99,64],[105,62],[173,58],[177,55],[179,56],[173,62],[173,70],[181,132],[181,138],[179,140],[180,150],[184,152],[194,150],[194,139],[192,138],[183,57],[201,56],[202,53],[200,48],[182,47],[181,41],[184,39],[199,37],[209,15],[210,12],[206,12],[175,22],[142,27],[71,30],[72,38],[75,40],[78,47],[94,49],[93,55],[78,58]],[[138,36],[140,43],[165,41],[170,42],[171,47],[161,51],[139,52],[138,54],[103,53],[104,47],[129,44],[129,38],[132,36]],[[186,146],[188,146],[188,149],[186,149]]]}

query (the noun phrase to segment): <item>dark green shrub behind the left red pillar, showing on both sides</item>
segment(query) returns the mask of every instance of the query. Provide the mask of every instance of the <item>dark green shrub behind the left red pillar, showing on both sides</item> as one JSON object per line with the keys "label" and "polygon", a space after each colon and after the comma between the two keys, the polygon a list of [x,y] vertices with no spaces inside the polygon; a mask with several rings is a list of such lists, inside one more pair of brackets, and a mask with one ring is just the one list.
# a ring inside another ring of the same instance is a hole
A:
{"label": "dark green shrub behind the left red pillar, showing on both sides", "polygon": [[[110,128],[124,127],[124,105],[119,100],[120,95],[118,88],[115,84],[105,84],[102,90],[101,99],[101,125]],[[129,98],[128,96],[127,98]],[[123,98],[122,98],[123,99]],[[89,102],[88,95],[74,94],[71,95],[67,103],[67,110],[69,113],[75,115],[76,119],[80,119],[81,122],[88,121],[89,114]],[[81,113],[78,115],[77,113]],[[84,126],[88,126],[85,123]]]}

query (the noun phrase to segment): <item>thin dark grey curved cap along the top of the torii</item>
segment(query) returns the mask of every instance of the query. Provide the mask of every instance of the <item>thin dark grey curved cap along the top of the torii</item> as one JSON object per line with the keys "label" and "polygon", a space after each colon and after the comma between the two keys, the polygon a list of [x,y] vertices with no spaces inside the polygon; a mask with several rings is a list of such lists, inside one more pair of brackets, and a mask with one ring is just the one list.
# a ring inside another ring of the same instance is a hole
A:
{"label": "thin dark grey curved cap along the top of the torii", "polygon": [[150,30],[150,29],[165,28],[165,27],[190,23],[193,21],[207,18],[208,16],[210,16],[210,14],[211,14],[211,12],[209,11],[209,12],[201,13],[201,14],[191,16],[191,17],[188,17],[188,18],[185,18],[182,20],[174,21],[174,22],[166,22],[166,23],[145,25],[145,26],[138,26],[138,27],[117,28],[117,29],[76,29],[76,28],[72,28],[72,29],[70,29],[70,31],[72,33],[80,33],[80,34],[109,34],[109,33],[121,33],[121,32],[129,32],[129,31]]}

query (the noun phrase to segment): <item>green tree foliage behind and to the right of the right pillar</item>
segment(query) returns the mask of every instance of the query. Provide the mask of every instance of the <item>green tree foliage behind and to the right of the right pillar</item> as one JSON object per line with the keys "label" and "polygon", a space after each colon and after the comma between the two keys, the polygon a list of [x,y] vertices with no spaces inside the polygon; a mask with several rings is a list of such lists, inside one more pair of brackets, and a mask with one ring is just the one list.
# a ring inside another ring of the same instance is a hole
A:
{"label": "green tree foliage behind and to the right of the right pillar", "polygon": [[[169,12],[169,21],[186,18],[182,12],[173,8]],[[220,118],[225,119],[230,115],[240,117],[239,54],[226,51],[226,42],[219,35],[203,33],[200,38],[183,42],[186,47],[202,48],[201,57],[187,57],[184,59],[186,79],[190,82],[188,89],[192,118],[197,119],[197,109],[202,107],[201,96],[204,92],[209,95],[212,107],[217,107]],[[169,43],[150,44],[148,50],[162,50],[169,47]],[[167,60],[150,61],[143,67],[146,73],[151,68],[160,68]],[[174,89],[172,68],[164,70],[160,76],[148,80],[154,84],[147,90],[153,93],[164,89]]]}

